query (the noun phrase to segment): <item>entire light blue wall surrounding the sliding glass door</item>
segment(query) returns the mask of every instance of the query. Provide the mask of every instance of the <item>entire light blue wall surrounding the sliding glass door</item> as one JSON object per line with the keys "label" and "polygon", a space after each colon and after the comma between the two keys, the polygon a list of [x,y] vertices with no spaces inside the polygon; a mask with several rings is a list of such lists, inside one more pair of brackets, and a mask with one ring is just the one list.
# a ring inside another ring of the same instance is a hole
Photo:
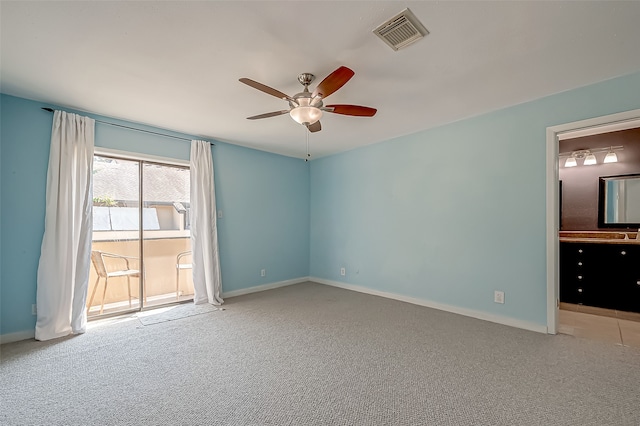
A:
{"label": "entire light blue wall surrounding the sliding glass door", "polygon": [[[1,95],[0,334],[32,330],[44,231],[53,114],[45,105]],[[55,108],[55,106],[52,106]],[[89,115],[177,136],[140,124]],[[96,124],[96,146],[188,160],[190,145]],[[213,147],[223,291],[304,277],[309,272],[309,165],[215,142]],[[260,269],[267,270],[260,277]]]}

